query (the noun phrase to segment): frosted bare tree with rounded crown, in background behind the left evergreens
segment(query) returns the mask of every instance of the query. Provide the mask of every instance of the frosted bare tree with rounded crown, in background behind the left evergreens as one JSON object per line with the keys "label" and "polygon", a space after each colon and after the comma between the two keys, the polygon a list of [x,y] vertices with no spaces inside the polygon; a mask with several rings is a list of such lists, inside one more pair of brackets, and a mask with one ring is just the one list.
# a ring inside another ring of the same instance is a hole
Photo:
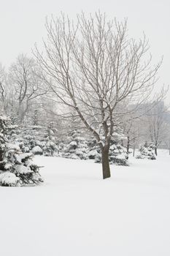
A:
{"label": "frosted bare tree with rounded crown, in background behind the left evergreens", "polygon": [[9,69],[9,84],[14,97],[12,105],[15,108],[17,105],[16,112],[20,121],[23,121],[35,100],[45,94],[39,73],[40,69],[36,61],[23,54],[18,56],[17,61]]}

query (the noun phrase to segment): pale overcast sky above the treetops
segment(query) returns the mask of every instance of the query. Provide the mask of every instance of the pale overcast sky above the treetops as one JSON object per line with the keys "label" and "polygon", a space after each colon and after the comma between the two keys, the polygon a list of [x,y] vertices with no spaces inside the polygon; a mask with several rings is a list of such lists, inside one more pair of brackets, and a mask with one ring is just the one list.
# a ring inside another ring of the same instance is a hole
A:
{"label": "pale overcast sky above the treetops", "polygon": [[31,54],[45,37],[47,15],[63,11],[74,18],[82,10],[128,18],[128,34],[136,39],[144,31],[155,63],[164,56],[160,83],[170,84],[170,0],[0,0],[1,64],[9,66],[19,53]]}

